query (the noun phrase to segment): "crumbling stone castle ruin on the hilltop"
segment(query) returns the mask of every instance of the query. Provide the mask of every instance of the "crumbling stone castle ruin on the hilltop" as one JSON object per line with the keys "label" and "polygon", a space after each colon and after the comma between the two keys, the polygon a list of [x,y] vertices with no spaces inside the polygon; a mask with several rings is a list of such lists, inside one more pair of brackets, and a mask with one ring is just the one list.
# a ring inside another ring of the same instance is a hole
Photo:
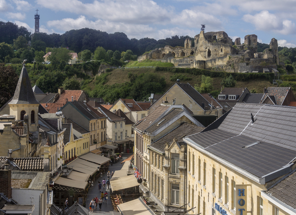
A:
{"label": "crumbling stone castle ruin on the hilltop", "polygon": [[257,52],[257,35],[244,37],[241,44],[224,31],[206,32],[201,30],[194,37],[194,47],[187,38],[184,48],[165,46],[138,57],[138,61],[156,60],[173,63],[176,67],[225,70],[228,72],[272,72],[279,64],[278,44],[275,38],[270,48],[262,53]]}

